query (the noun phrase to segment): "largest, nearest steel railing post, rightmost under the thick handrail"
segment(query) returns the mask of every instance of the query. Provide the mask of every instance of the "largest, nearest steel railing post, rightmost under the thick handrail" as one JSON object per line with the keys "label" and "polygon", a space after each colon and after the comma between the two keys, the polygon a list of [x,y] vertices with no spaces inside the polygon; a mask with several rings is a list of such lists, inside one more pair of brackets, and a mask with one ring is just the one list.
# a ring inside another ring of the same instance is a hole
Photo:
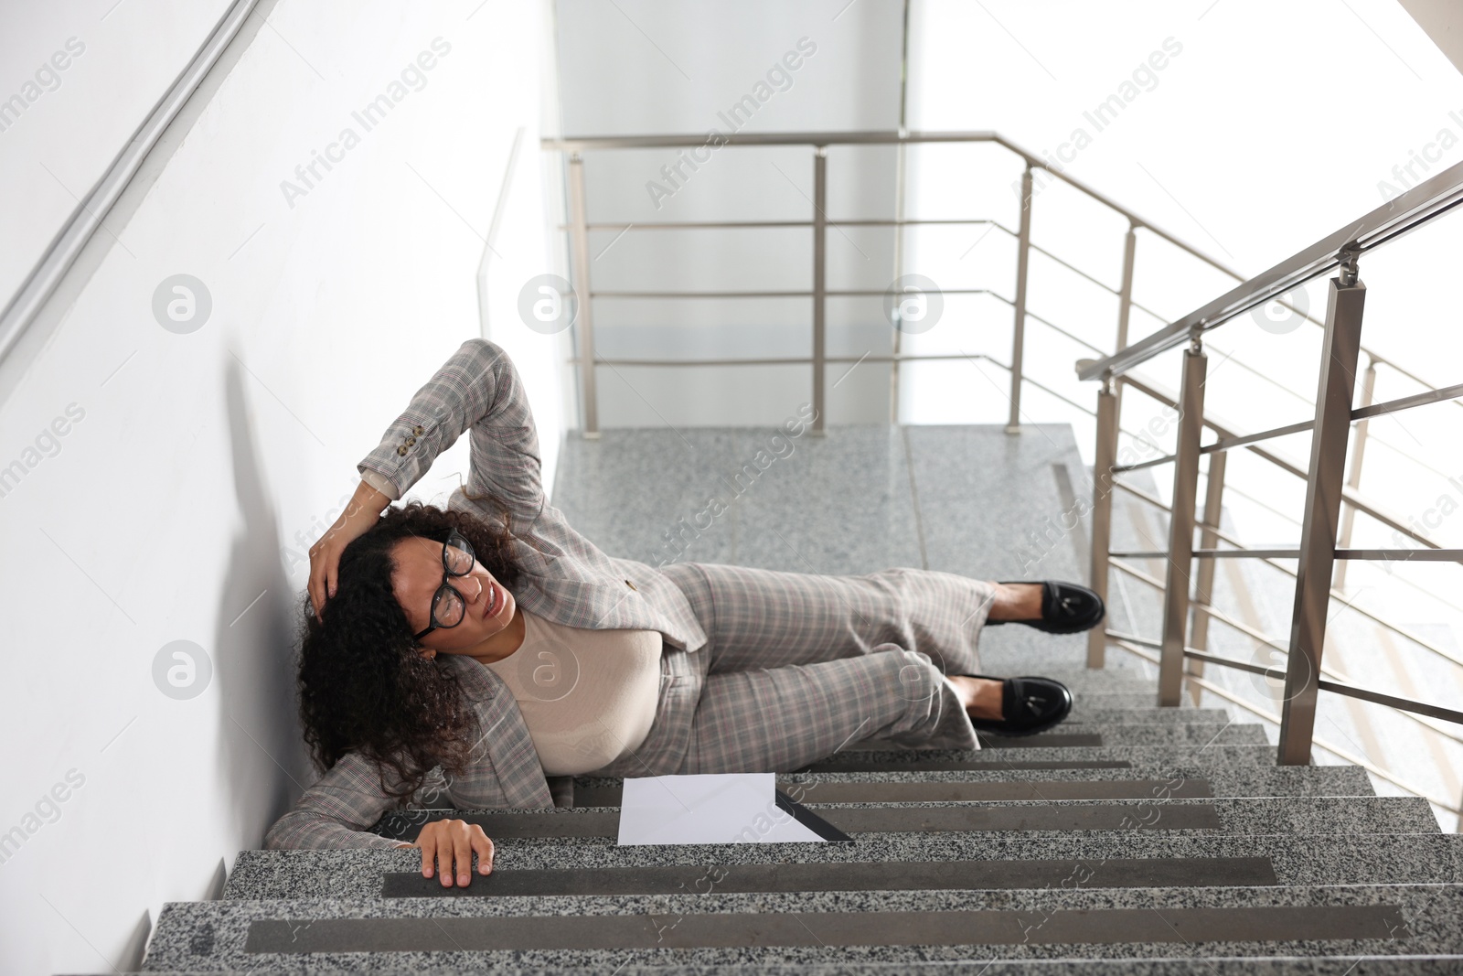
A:
{"label": "largest, nearest steel railing post, rightmost under the thick handrail", "polygon": [[1352,395],[1361,354],[1366,285],[1356,277],[1356,253],[1342,250],[1340,275],[1331,278],[1321,341],[1321,378],[1315,392],[1311,468],[1305,484],[1305,521],[1296,565],[1290,654],[1280,708],[1280,765],[1308,765],[1315,730],[1325,616],[1331,600],[1336,531],[1342,512],[1346,442],[1352,432]]}

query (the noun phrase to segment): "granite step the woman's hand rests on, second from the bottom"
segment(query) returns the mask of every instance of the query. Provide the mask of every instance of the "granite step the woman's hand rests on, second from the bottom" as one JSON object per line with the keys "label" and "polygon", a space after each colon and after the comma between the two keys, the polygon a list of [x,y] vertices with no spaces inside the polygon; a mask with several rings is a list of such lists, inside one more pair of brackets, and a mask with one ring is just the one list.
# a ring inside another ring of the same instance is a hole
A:
{"label": "granite step the woman's hand rests on, second from the bottom", "polygon": [[[910,863],[942,868],[925,875],[901,874],[904,869],[898,866]],[[791,871],[793,865],[806,871]],[[862,866],[853,874],[838,874],[832,868],[840,865]],[[1270,879],[1255,881],[1263,871],[1271,872]],[[1080,881],[1080,887],[1090,890],[1151,887],[1156,881],[1144,878],[1163,872],[1167,872],[1165,887],[1463,882],[1463,836],[1146,831],[999,838],[884,836],[860,837],[856,844],[620,847],[607,843],[568,849],[540,844],[499,850],[493,874],[474,876],[467,888],[443,888],[436,879],[423,879],[415,850],[246,850],[234,862],[222,897],[683,894],[708,887],[717,891],[1004,890],[1064,887],[1061,882],[1069,876],[1074,879],[1065,887]],[[1249,881],[1235,881],[1245,872]],[[398,887],[388,891],[386,875],[402,875],[392,879]],[[705,876],[715,884],[710,885]],[[417,882],[424,887],[413,887]]]}

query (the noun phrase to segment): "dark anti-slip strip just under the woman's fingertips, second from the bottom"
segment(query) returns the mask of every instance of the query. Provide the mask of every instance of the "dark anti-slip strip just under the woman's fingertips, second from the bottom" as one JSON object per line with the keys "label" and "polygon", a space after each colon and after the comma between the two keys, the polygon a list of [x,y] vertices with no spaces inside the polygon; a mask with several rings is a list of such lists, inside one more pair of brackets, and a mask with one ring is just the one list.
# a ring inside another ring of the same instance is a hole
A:
{"label": "dark anti-slip strip just under the woman's fingertips, second from the bottom", "polygon": [[443,888],[420,871],[382,875],[383,898],[710,894],[712,891],[935,891],[1007,888],[1204,888],[1273,885],[1268,857],[897,860],[853,863],[553,868],[474,876]]}

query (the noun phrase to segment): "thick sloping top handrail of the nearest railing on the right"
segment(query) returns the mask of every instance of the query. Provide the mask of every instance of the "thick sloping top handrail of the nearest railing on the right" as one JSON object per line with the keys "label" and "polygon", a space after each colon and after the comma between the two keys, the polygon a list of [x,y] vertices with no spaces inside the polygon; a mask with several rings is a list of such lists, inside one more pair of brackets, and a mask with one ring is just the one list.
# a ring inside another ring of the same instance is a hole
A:
{"label": "thick sloping top handrail of the nearest railing on the right", "polygon": [[1216,329],[1230,319],[1324,275],[1340,263],[1337,255],[1343,247],[1358,246],[1361,250],[1369,250],[1447,212],[1460,200],[1463,200],[1463,162],[1454,164],[1403,192],[1362,218],[1194,309],[1166,328],[1087,366],[1078,376],[1080,379],[1102,379],[1105,375],[1121,376],[1159,353],[1188,342],[1194,331]]}

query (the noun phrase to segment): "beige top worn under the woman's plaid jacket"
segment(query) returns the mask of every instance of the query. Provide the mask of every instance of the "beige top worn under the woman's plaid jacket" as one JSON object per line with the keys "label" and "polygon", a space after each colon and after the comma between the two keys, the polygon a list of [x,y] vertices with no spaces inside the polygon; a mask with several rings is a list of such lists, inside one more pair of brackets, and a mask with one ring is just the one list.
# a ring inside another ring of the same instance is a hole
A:
{"label": "beige top worn under the woman's plaid jacket", "polygon": [[519,610],[524,642],[487,667],[514,692],[544,776],[593,773],[645,742],[660,704],[660,631],[594,631]]}

